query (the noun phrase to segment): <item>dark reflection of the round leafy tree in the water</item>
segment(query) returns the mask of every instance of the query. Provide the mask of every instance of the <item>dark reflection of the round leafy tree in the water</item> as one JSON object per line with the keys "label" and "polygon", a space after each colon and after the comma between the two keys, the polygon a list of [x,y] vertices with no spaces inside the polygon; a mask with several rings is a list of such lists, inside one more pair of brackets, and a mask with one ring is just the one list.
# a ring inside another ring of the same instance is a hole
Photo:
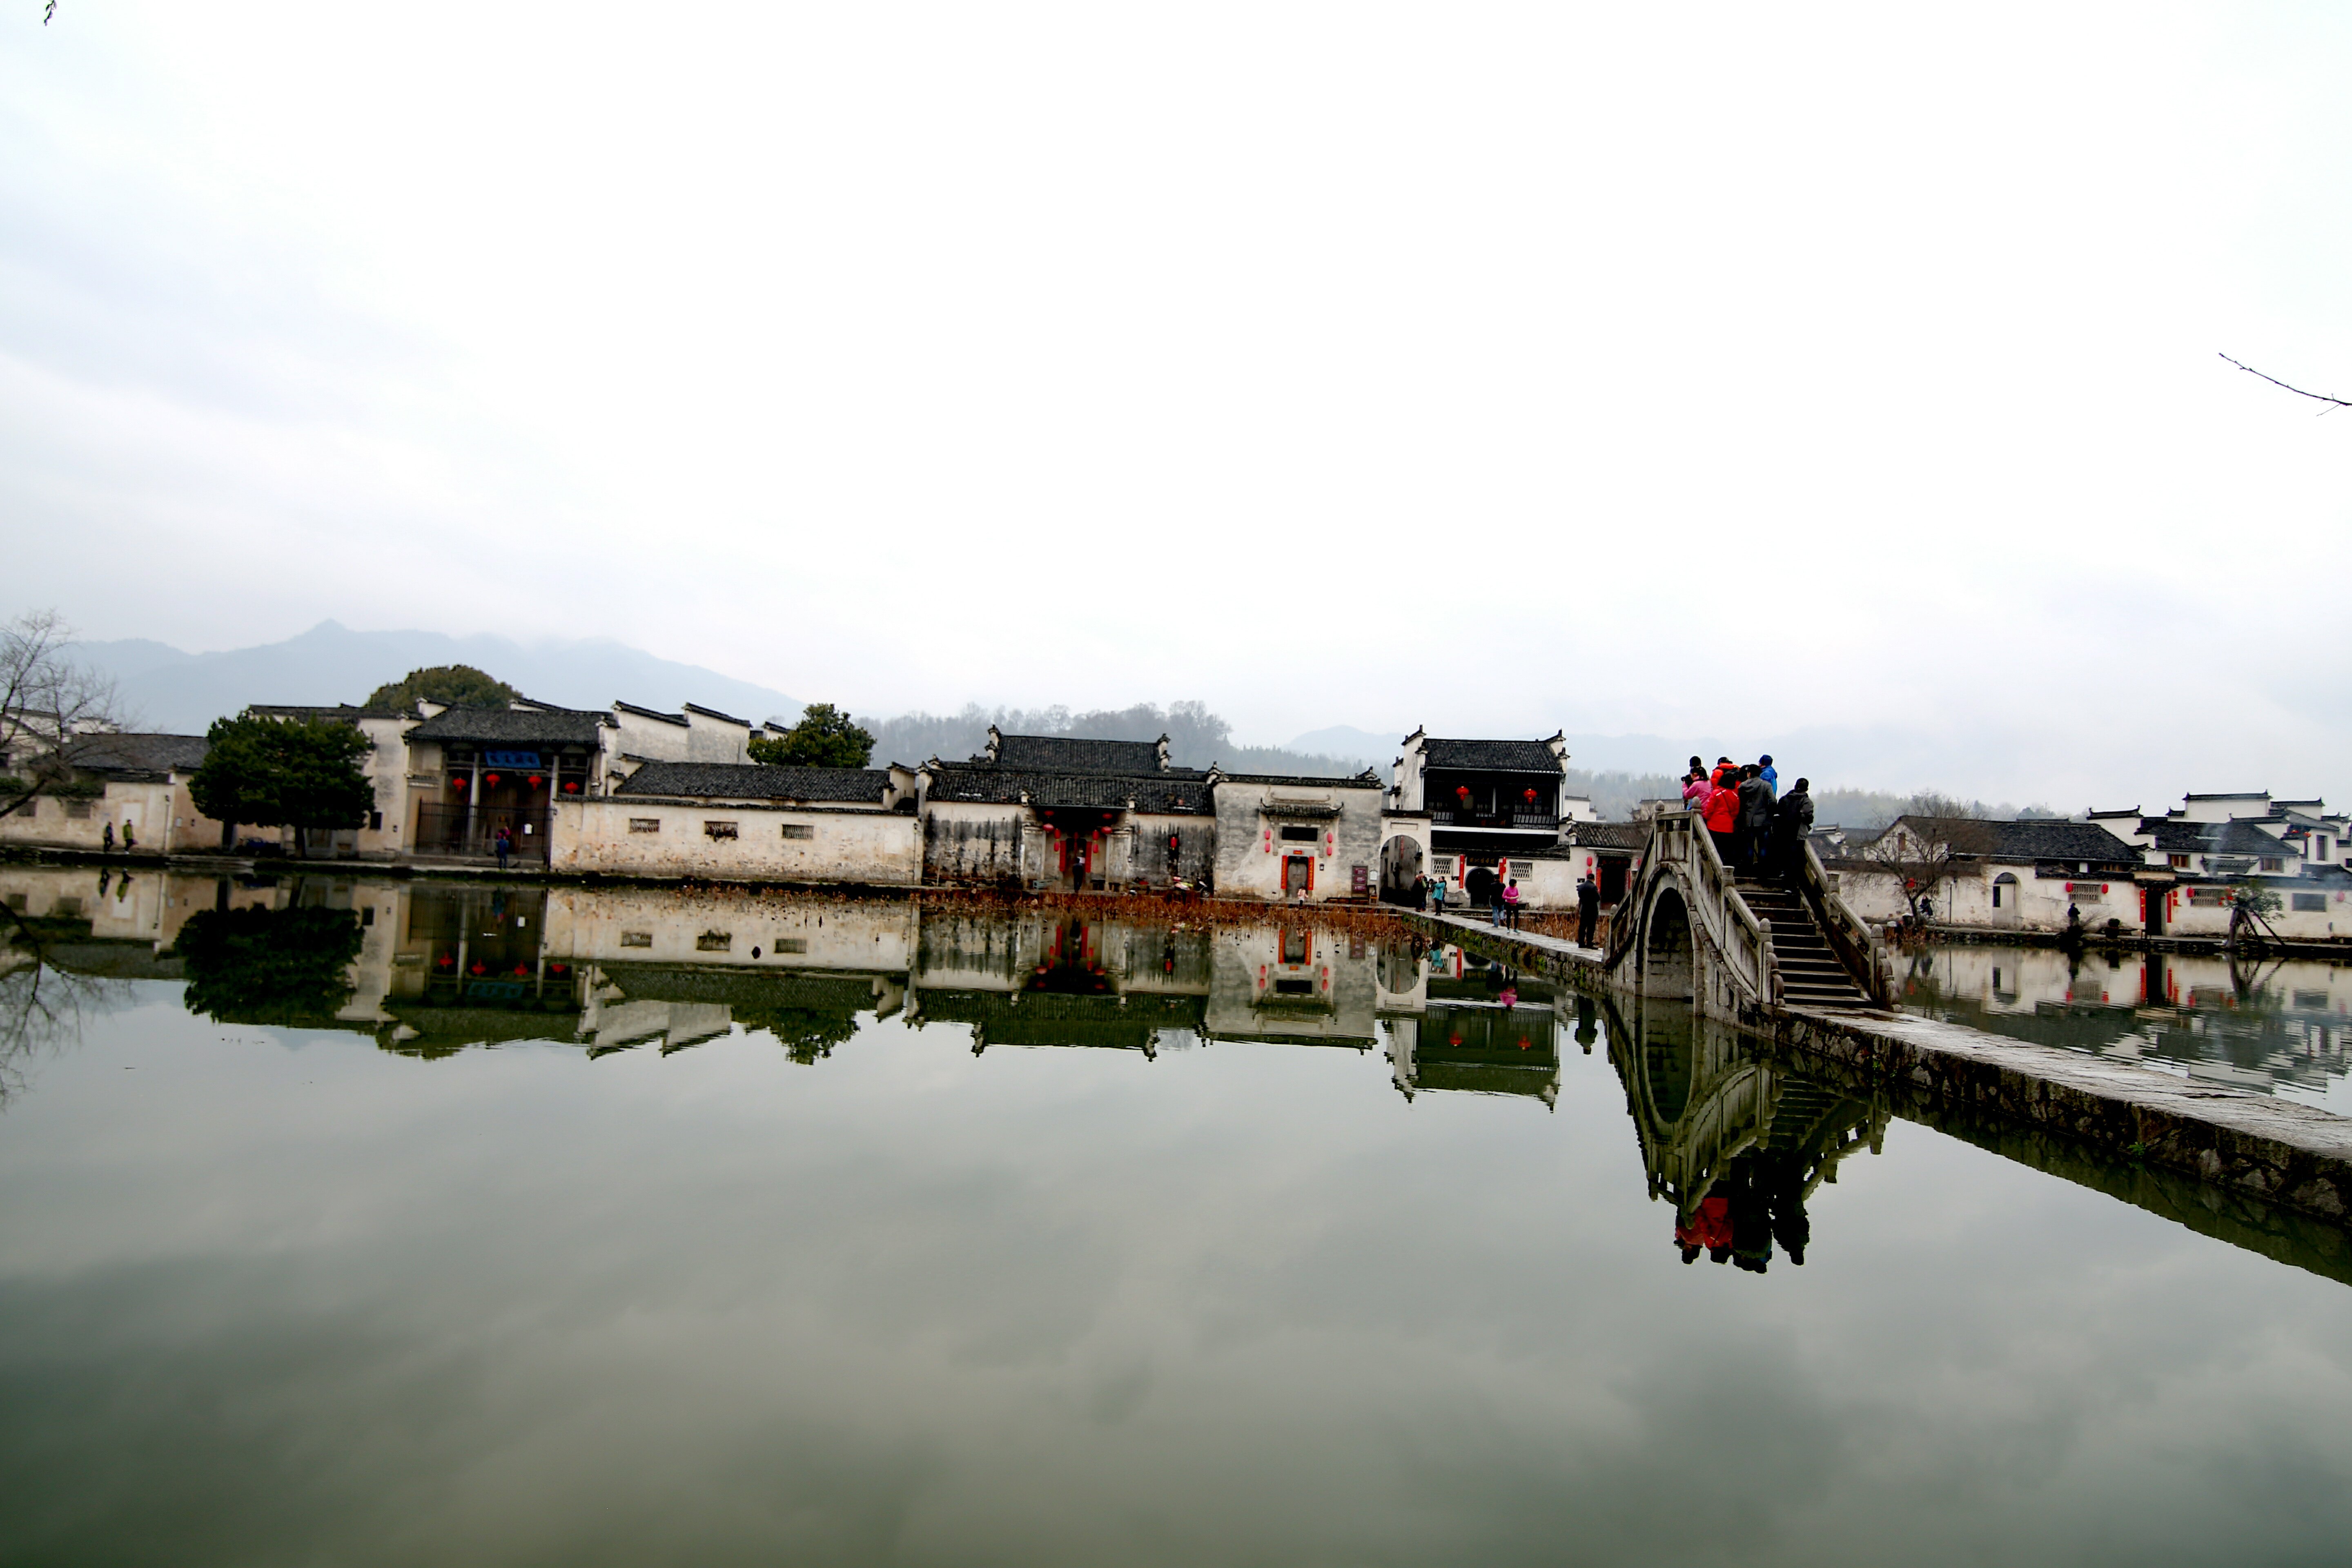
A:
{"label": "dark reflection of the round leafy tree in the water", "polygon": [[188,1011],[221,1023],[334,1027],[350,1001],[350,910],[198,910],[179,929]]}

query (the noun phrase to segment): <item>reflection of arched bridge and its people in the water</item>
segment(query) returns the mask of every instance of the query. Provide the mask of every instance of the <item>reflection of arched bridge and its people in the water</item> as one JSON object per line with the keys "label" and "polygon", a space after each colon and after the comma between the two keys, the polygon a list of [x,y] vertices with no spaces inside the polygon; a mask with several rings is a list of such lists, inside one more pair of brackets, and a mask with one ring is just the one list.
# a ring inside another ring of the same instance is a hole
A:
{"label": "reflection of arched bridge and its people in the water", "polygon": [[1773,1246],[1804,1262],[1806,1199],[1856,1147],[1884,1147],[1886,1110],[1757,1058],[1736,1030],[1689,1006],[1609,1006],[1609,1058],[1625,1084],[1649,1194],[1675,1206],[1672,1241],[1762,1274]]}

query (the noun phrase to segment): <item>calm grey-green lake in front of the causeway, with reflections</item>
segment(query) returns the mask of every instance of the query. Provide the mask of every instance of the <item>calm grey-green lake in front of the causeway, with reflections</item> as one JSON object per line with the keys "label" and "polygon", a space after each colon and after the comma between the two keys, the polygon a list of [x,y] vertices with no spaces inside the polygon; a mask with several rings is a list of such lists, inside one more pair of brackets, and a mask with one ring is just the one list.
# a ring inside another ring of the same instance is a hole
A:
{"label": "calm grey-green lake in front of the causeway, with reflections", "polygon": [[2324,1246],[1689,1013],[1317,926],[0,893],[7,1563],[2352,1540]]}

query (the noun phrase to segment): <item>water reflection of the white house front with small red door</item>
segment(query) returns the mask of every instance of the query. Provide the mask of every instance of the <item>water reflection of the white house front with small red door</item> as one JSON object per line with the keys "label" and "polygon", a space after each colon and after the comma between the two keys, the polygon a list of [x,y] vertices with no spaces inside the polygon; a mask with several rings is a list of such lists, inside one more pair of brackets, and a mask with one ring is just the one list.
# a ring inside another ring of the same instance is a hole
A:
{"label": "water reflection of the white house front with small red door", "polygon": [[1369,1051],[1378,978],[1359,931],[1312,924],[1223,929],[1211,943],[1211,1039],[1265,1039]]}

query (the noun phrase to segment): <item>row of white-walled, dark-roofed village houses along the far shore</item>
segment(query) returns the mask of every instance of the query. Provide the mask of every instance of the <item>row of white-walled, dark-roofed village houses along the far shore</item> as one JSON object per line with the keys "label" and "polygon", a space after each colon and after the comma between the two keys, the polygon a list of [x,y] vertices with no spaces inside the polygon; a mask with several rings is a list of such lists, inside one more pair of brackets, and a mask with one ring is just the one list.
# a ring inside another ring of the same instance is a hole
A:
{"label": "row of white-walled, dark-roofed village houses along the far shore", "polygon": [[[1517,882],[1522,907],[1569,910],[1592,877],[1613,905],[1639,870],[1649,802],[1602,823],[1566,790],[1566,743],[1414,731],[1390,778],[1237,773],[1169,762],[1167,738],[1087,741],[988,731],[967,759],[866,769],[769,766],[713,708],[600,710],[510,701],[414,710],[256,705],[367,736],[367,820],[346,830],[223,825],[188,780],[202,736],[82,738],[85,788],[0,818],[0,844],[165,856],[301,853],[477,867],[503,837],[553,875],[1004,891],[1202,891],[1284,903],[1414,900],[1444,882],[1456,907]],[[21,764],[24,759],[14,759]],[[0,766],[9,759],[0,759]],[[1929,905],[1955,929],[2223,936],[2232,889],[2279,893],[2286,938],[2352,936],[2352,823],[2319,799],[2187,795],[2161,816],[2084,811],[1978,820],[1905,816],[1884,832],[1820,827],[1825,875],[1865,919]]]}

